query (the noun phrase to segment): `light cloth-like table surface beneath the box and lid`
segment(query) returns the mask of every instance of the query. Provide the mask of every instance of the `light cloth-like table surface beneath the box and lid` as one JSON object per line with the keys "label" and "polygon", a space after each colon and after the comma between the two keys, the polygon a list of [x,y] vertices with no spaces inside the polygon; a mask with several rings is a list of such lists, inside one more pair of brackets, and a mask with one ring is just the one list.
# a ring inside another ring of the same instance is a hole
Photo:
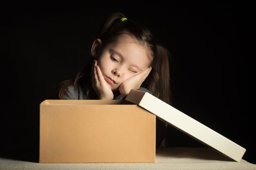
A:
{"label": "light cloth-like table surface beneath the box and lid", "polygon": [[155,163],[38,163],[0,157],[0,170],[256,170],[211,148],[157,148]]}

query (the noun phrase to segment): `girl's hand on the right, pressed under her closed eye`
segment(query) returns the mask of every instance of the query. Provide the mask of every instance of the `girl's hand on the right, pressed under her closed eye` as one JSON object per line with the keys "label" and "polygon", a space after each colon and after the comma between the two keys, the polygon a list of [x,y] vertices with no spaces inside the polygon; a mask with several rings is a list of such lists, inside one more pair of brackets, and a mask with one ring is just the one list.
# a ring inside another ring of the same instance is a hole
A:
{"label": "girl's hand on the right, pressed under her closed eye", "polygon": [[145,71],[130,77],[119,85],[119,91],[122,97],[125,97],[131,89],[138,89],[144,80],[148,77],[152,67],[147,68]]}

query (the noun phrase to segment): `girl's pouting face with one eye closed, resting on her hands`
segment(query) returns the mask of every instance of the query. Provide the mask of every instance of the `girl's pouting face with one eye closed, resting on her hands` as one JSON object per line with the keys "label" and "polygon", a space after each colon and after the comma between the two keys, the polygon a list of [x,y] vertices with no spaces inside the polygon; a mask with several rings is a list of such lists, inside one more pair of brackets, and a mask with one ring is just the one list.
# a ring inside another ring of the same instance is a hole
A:
{"label": "girl's pouting face with one eye closed, resting on her hands", "polygon": [[131,36],[122,35],[103,49],[98,57],[98,66],[109,87],[118,90],[122,82],[150,67],[149,55],[148,48]]}

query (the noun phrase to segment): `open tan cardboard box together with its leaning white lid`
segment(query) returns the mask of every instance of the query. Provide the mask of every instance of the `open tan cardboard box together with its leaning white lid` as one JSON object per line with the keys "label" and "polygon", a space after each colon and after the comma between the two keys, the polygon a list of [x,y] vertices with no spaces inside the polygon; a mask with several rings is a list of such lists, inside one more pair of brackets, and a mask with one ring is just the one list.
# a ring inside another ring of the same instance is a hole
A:
{"label": "open tan cardboard box together with its leaning white lid", "polygon": [[156,118],[237,162],[245,149],[155,96],[124,100],[45,100],[39,163],[155,162]]}

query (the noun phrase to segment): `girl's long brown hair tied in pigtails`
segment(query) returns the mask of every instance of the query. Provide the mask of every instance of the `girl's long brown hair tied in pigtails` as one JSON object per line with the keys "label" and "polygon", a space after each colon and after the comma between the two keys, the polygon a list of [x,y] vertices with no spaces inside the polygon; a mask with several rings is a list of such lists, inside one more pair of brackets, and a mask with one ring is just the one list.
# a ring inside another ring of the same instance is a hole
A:
{"label": "girl's long brown hair tied in pigtails", "polygon": [[[98,53],[100,54],[107,44],[115,41],[118,36],[123,34],[129,34],[136,38],[138,42],[145,44],[150,50],[151,56],[153,56],[153,61],[151,64],[152,70],[141,86],[150,90],[158,99],[170,104],[170,52],[156,43],[155,37],[147,28],[129,18],[120,21],[123,17],[125,16],[118,12],[106,18],[97,35],[97,38],[102,42]],[[89,61],[79,71],[75,79],[63,81],[58,85],[59,99],[65,99],[66,88],[68,86],[74,85],[76,88],[78,84],[81,85],[85,95],[89,95],[90,97],[96,96],[91,85],[91,67],[93,60],[94,57],[91,55]]]}

